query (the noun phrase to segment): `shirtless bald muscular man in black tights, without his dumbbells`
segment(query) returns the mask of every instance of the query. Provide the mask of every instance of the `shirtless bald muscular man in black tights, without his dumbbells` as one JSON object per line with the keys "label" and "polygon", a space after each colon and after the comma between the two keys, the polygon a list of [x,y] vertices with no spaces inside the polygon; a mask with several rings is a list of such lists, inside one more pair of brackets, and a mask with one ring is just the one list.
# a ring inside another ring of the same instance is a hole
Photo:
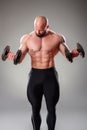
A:
{"label": "shirtless bald muscular man in black tights, without his dumbbells", "polygon": [[[27,97],[32,106],[31,121],[33,130],[40,130],[41,125],[41,102],[44,95],[47,106],[48,130],[55,129],[56,104],[59,100],[58,73],[55,69],[54,57],[61,52],[66,58],[65,39],[49,29],[48,19],[44,16],[37,16],[34,20],[34,31],[24,35],[20,39],[21,63],[28,53],[31,57],[31,71],[27,87]],[[77,49],[69,50],[72,58],[79,55]],[[14,54],[8,54],[9,59],[14,59]]]}

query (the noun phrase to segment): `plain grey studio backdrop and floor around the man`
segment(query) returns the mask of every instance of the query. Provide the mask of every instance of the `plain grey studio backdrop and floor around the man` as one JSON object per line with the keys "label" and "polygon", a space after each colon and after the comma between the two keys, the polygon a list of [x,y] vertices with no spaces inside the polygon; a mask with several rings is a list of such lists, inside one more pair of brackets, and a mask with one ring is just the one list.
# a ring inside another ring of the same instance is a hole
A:
{"label": "plain grey studio backdrop and floor around the man", "polygon": [[[73,49],[80,42],[87,53],[87,1],[86,0],[0,0],[0,55],[6,45],[15,53],[22,35],[33,30],[37,15],[49,19],[50,29],[66,37]],[[87,129],[87,57],[80,56],[69,63],[60,53],[55,57],[59,73],[60,100],[57,104],[58,130]],[[30,57],[23,63],[0,59],[0,129],[32,130],[31,106],[26,90]],[[38,76],[39,77],[39,76]],[[39,78],[38,78],[39,80]],[[42,102],[42,126],[46,126],[46,105]]]}

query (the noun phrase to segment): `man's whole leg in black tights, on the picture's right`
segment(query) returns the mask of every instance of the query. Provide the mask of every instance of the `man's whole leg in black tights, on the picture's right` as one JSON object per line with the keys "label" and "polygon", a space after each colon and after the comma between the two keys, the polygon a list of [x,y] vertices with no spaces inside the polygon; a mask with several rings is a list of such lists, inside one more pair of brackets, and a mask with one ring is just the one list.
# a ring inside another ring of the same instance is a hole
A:
{"label": "man's whole leg in black tights, on the picture's right", "polygon": [[48,130],[55,129],[56,104],[59,99],[59,84],[55,75],[50,75],[44,83],[44,95],[48,110],[47,125]]}

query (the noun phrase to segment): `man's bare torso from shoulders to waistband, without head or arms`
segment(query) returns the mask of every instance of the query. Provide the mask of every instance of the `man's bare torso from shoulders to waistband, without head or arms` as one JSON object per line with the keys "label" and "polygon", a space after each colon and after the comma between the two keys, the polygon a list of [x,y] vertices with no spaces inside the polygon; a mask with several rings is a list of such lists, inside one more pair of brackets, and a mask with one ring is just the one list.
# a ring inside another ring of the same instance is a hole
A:
{"label": "man's bare torso from shoulders to waistband, without head or arms", "polygon": [[32,68],[45,69],[54,66],[54,56],[59,51],[60,36],[51,31],[42,38],[32,32],[27,39]]}

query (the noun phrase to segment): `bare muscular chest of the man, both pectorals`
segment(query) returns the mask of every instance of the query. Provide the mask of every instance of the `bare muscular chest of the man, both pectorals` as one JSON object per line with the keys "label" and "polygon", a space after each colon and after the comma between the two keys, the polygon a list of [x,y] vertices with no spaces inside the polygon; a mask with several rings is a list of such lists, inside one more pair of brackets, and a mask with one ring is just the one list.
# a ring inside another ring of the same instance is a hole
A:
{"label": "bare muscular chest of the man, both pectorals", "polygon": [[33,51],[51,51],[58,48],[59,42],[56,39],[49,38],[34,38],[29,40],[27,46]]}

